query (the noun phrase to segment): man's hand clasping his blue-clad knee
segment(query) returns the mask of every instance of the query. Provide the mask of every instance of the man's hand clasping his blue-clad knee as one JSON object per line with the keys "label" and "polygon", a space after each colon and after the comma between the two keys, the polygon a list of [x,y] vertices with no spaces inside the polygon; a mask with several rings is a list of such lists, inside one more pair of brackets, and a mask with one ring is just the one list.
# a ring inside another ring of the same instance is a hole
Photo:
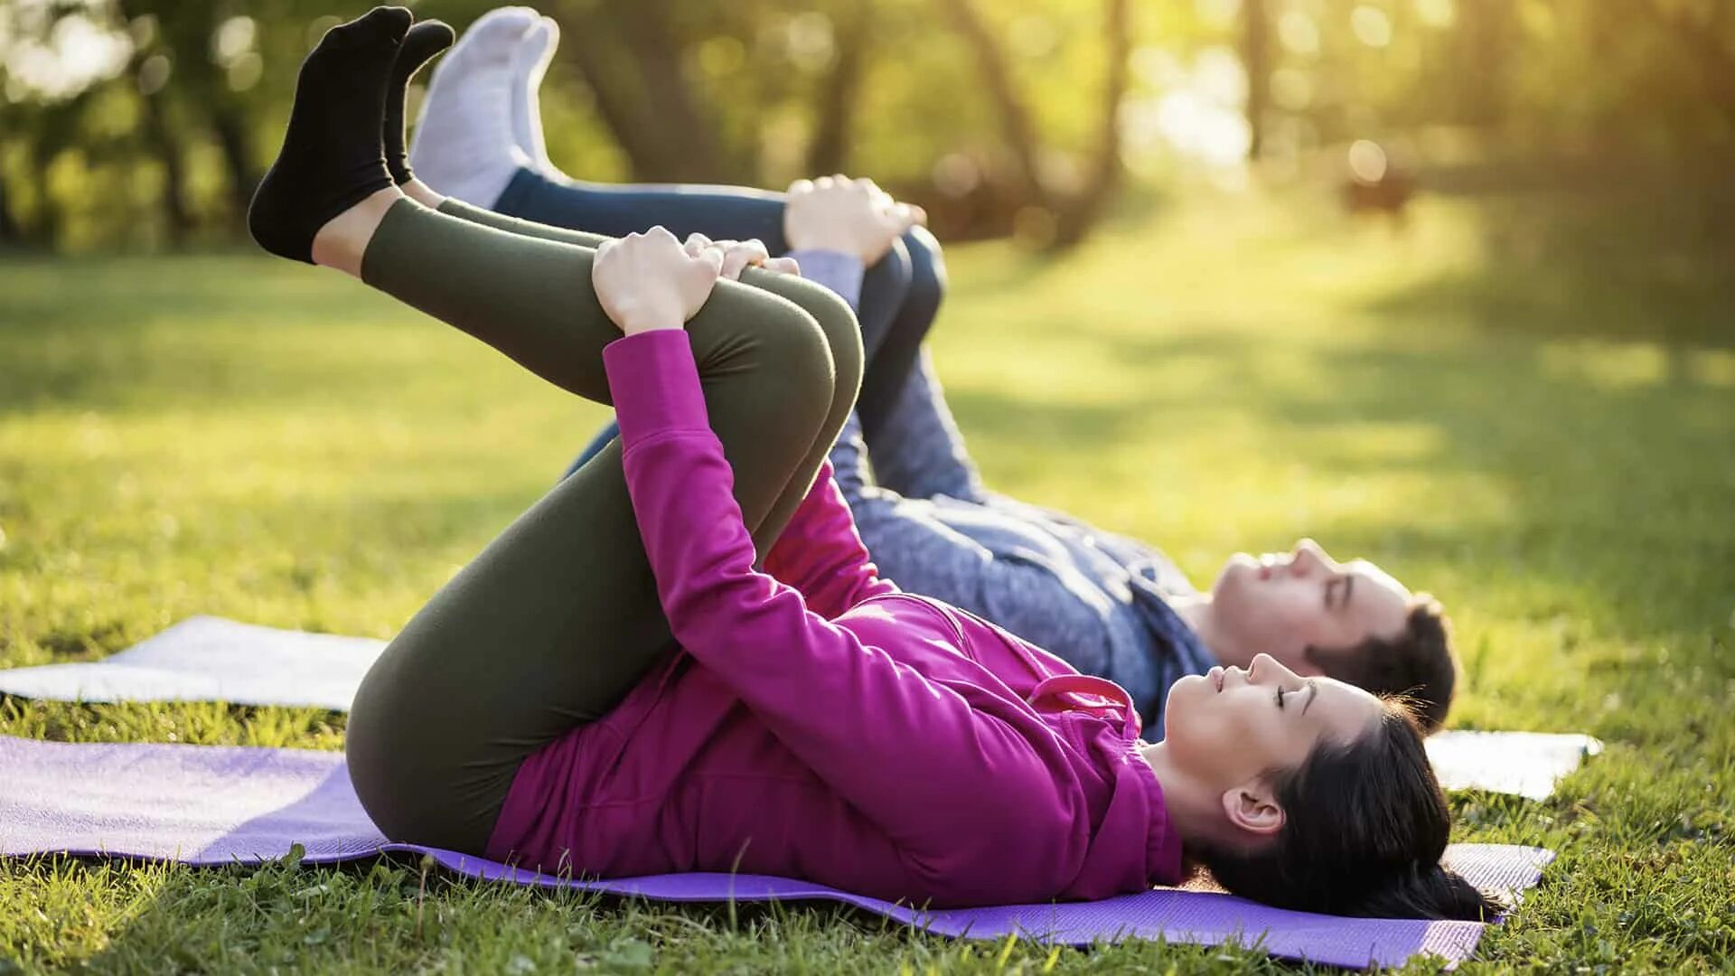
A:
{"label": "man's hand clasping his blue-clad knee", "polygon": [[789,184],[782,234],[789,250],[835,250],[873,264],[925,219],[921,207],[892,200],[871,179],[822,175]]}

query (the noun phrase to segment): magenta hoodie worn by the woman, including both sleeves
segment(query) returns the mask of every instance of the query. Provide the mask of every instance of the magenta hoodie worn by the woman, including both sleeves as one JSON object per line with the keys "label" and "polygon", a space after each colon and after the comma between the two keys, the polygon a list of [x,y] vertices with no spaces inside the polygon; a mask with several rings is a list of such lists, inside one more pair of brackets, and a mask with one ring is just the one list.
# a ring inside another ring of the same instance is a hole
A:
{"label": "magenta hoodie worn by the woman, including both sleeves", "polygon": [[932,907],[1180,880],[1119,686],[878,578],[829,465],[756,571],[687,333],[621,339],[604,361],[680,650],[524,762],[488,856]]}

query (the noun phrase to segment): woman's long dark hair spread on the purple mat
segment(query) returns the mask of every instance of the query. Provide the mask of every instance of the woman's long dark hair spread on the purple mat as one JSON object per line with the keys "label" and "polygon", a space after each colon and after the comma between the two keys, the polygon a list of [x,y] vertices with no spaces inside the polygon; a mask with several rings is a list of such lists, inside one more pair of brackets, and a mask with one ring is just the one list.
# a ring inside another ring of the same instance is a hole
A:
{"label": "woman's long dark hair spread on the purple mat", "polygon": [[1270,775],[1284,825],[1253,851],[1188,851],[1234,894],[1371,919],[1492,919],[1499,903],[1440,865],[1452,828],[1411,710],[1386,700],[1353,742]]}

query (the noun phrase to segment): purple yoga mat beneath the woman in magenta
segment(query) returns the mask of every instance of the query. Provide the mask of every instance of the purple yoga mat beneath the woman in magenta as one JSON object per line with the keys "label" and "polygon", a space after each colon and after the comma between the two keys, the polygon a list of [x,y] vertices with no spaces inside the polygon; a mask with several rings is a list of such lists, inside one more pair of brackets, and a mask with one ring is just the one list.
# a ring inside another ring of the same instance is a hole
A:
{"label": "purple yoga mat beneath the woman in magenta", "polygon": [[[468,854],[385,842],[356,801],[344,757],[335,752],[69,745],[0,736],[0,856],[69,853],[222,865],[281,858],[293,844],[302,844],[312,863],[416,851],[458,874],[512,884],[661,901],[841,901],[959,938],[1017,933],[1065,945],[1159,936],[1199,945],[1239,940],[1272,955],[1353,967],[1398,966],[1416,953],[1457,962],[1470,957],[1485,929],[1476,922],[1336,919],[1175,889],[1086,903],[923,912],[765,875],[678,874],[576,882]],[[1537,847],[1459,844],[1449,858],[1483,887],[1522,891],[1541,879],[1553,854]]]}

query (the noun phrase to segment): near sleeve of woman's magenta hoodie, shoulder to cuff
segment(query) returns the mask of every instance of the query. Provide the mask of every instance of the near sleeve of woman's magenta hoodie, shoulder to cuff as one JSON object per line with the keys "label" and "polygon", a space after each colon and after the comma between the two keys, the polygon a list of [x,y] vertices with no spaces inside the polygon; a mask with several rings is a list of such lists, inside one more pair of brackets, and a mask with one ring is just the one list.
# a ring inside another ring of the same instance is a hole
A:
{"label": "near sleeve of woman's magenta hoodie, shoulder to cuff", "polygon": [[753,568],[684,332],[621,339],[604,359],[626,485],[675,639],[786,748],[933,870],[972,856],[954,851],[959,837],[982,856],[984,844],[1051,832],[1060,818],[1088,821],[1064,745],[1041,721],[864,644]]}

